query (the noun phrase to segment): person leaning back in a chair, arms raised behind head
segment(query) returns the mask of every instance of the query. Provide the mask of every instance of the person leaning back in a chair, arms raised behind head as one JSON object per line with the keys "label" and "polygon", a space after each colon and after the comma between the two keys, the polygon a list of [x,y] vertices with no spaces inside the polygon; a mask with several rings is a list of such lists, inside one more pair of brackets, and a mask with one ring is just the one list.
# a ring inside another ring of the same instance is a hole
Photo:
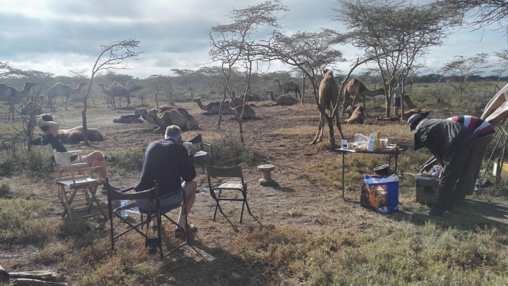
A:
{"label": "person leaning back in a chair, arms raised behind head", "polygon": [[[58,130],[60,129],[60,125],[55,122],[51,113],[44,113],[40,118],[36,121],[37,125],[44,131],[44,135],[42,136],[42,144],[47,145],[51,144],[53,149],[56,149],[57,152],[67,152],[65,146],[63,146],[60,138],[58,136]],[[104,156],[100,151],[93,151],[92,153],[82,156],[82,155],[70,155],[71,162],[73,164],[76,163],[87,163],[90,167],[100,166],[99,169],[101,178],[108,177],[107,170],[107,162],[114,162],[116,158],[113,156]],[[106,185],[102,187],[103,191],[106,190]]]}

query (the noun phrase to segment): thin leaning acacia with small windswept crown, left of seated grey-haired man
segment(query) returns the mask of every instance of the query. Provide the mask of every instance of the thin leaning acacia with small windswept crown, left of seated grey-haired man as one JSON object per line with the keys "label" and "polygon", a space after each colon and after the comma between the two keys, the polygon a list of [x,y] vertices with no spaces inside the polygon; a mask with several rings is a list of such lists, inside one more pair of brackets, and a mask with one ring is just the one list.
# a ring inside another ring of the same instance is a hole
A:
{"label": "thin leaning acacia with small windswept crown, left of seated grey-haired man", "polygon": [[129,59],[137,60],[142,52],[137,52],[139,43],[136,39],[129,38],[127,40],[111,42],[107,45],[100,45],[101,53],[97,57],[97,60],[93,64],[92,73],[90,76],[90,83],[86,90],[86,95],[83,98],[83,111],[81,111],[81,117],[83,120],[83,139],[85,144],[88,144],[87,128],[86,128],[86,109],[88,108],[87,100],[92,89],[94,76],[101,71],[114,69],[124,70],[128,69],[127,65]]}

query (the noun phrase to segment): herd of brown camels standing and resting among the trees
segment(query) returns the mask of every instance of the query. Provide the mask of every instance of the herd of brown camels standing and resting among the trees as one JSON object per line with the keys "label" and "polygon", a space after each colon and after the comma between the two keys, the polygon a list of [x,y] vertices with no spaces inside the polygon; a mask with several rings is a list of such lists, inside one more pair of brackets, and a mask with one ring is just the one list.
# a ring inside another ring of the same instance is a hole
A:
{"label": "herd of brown camels standing and resting among the trees", "polygon": [[[335,79],[333,78],[333,71],[325,69],[323,70],[323,79],[320,82],[319,86],[319,105],[321,110],[326,112],[327,110],[330,112],[334,108],[335,102],[337,102],[337,98],[339,96],[338,85]],[[273,91],[266,91],[266,95],[270,97],[270,99],[274,102],[272,105],[281,105],[281,106],[291,106],[298,104],[302,98],[302,94],[300,91],[299,85],[293,80],[284,81],[280,83],[280,79],[274,79],[274,82],[277,84],[277,87],[283,92],[282,95],[275,97]],[[83,87],[87,85],[86,82],[78,83],[76,88],[72,88],[70,85],[62,84],[57,82],[53,87],[49,88],[47,91],[48,97],[48,105],[51,111],[56,111],[54,104],[56,103],[56,97],[65,97],[65,110],[68,110],[67,104],[69,101],[69,97],[74,94],[79,94]],[[130,87],[132,85],[132,81],[128,81],[123,87],[118,82],[113,82],[108,88],[104,83],[98,83],[98,86],[101,88],[102,92],[107,95],[107,104],[108,108],[111,104],[113,109],[116,108],[115,97],[119,99],[119,106],[121,106],[121,98],[124,97],[127,100],[126,107],[129,107],[131,104],[131,91]],[[13,112],[13,103],[17,102],[20,98],[27,96],[30,88],[36,86],[34,82],[25,82],[23,90],[19,91],[14,87],[10,87],[4,83],[0,83],[0,100],[9,103],[9,119],[12,118],[14,120],[14,112]],[[290,92],[294,92],[295,96],[290,94]],[[358,78],[352,78],[345,86],[343,93],[343,102],[342,102],[342,114],[347,115],[349,117],[345,120],[345,123],[364,123],[365,117],[368,116],[366,112],[365,106],[365,98],[367,96],[373,97],[377,95],[384,95],[385,89],[380,88],[374,91],[370,91],[365,87]],[[404,97],[405,96],[405,97]],[[300,99],[299,99],[299,98]],[[363,106],[358,104],[356,105],[357,100],[363,98]],[[430,110],[428,109],[418,109],[412,102],[409,100],[407,95],[403,95],[403,99],[408,104],[410,108],[409,111],[404,112],[404,116],[408,117],[412,114],[419,113],[422,116],[428,116]],[[202,115],[218,115],[219,112],[221,115],[231,115],[230,119],[237,119],[237,115],[241,115],[243,113],[242,120],[251,120],[256,118],[256,112],[252,109],[252,101],[259,101],[260,98],[257,95],[249,95],[244,94],[240,97],[236,97],[234,92],[232,93],[232,100],[221,101],[212,101],[208,104],[203,104],[201,99],[197,98],[193,101],[198,104],[198,106],[204,110]],[[245,104],[244,104],[245,101]],[[37,103],[33,103],[37,104]],[[30,110],[34,110],[34,106],[30,106]],[[41,113],[42,109],[40,107],[37,108],[38,112]],[[220,110],[220,111],[219,111]],[[22,110],[22,112],[25,112]],[[157,106],[150,110],[146,108],[139,108],[135,111],[136,117],[142,117],[145,121],[155,125],[154,132],[164,132],[167,126],[169,125],[177,125],[182,130],[190,130],[199,128],[198,121],[196,118],[184,109],[184,108],[175,108],[170,105]],[[126,117],[134,117],[134,116],[126,116]],[[389,118],[379,118],[379,120],[397,120],[400,116],[392,116]],[[127,119],[127,118],[125,118]],[[137,119],[139,120],[139,119]],[[114,122],[123,123],[124,121],[114,120]],[[129,121],[125,121],[129,122]],[[319,142],[323,140],[323,129],[325,126],[325,118],[320,112],[320,121],[318,131],[311,141],[311,144],[315,144],[315,142]],[[335,115],[335,124],[339,130],[341,137],[343,137],[342,129],[340,127],[339,122],[339,112],[336,112]],[[69,130],[62,131],[63,140],[68,142],[75,142],[76,140],[82,139],[82,128],[81,126],[75,127]],[[91,130],[91,129],[88,129]],[[67,133],[66,133],[67,132]],[[94,135],[93,135],[94,134]],[[80,137],[81,136],[81,137]],[[92,140],[103,140],[104,135],[100,133],[99,130],[92,131],[92,135],[90,136]]]}

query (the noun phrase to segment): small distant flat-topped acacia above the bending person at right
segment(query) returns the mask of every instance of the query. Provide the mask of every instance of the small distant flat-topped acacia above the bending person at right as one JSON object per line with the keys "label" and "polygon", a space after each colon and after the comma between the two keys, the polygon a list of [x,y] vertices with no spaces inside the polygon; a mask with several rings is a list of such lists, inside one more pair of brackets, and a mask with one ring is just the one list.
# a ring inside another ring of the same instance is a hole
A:
{"label": "small distant flat-topped acacia above the bending person at right", "polygon": [[451,62],[444,63],[440,72],[445,76],[453,76],[459,79],[459,93],[462,96],[469,77],[481,74],[485,69],[491,67],[488,64],[488,58],[488,53],[477,53],[475,56],[468,58],[463,55],[457,55],[453,57]]}

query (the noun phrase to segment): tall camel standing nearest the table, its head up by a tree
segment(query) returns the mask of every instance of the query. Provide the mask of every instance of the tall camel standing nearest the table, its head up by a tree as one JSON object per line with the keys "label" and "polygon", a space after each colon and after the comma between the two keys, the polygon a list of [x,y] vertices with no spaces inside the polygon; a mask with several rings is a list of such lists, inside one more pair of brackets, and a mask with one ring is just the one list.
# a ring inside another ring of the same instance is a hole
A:
{"label": "tall camel standing nearest the table, its head up by a tree", "polygon": [[[337,82],[333,78],[333,70],[324,69],[323,70],[323,79],[319,85],[319,104],[323,112],[326,110],[330,110],[330,116],[333,111],[333,104],[337,102],[337,98],[339,96],[339,88],[337,86]],[[317,127],[317,133],[314,139],[310,142],[310,144],[316,144],[316,142],[323,141],[323,129],[325,127],[325,117],[320,112],[319,125]],[[340,137],[344,138],[344,134],[342,134],[342,127],[340,127],[339,121],[339,112],[335,113],[335,124],[337,125],[337,129],[339,129]]]}

